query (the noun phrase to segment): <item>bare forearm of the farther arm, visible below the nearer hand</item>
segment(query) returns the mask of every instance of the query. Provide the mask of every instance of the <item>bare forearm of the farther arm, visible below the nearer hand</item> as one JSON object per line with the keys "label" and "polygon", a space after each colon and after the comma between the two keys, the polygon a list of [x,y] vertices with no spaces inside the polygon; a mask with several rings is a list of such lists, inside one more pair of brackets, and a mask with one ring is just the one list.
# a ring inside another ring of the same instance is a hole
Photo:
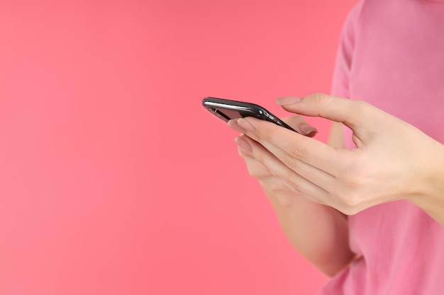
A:
{"label": "bare forearm of the farther arm, visible below the nearer hand", "polygon": [[265,193],[289,241],[321,272],[333,276],[353,259],[355,254],[348,245],[346,216],[304,197],[293,196],[291,202],[282,204],[277,197],[284,196],[266,189]]}

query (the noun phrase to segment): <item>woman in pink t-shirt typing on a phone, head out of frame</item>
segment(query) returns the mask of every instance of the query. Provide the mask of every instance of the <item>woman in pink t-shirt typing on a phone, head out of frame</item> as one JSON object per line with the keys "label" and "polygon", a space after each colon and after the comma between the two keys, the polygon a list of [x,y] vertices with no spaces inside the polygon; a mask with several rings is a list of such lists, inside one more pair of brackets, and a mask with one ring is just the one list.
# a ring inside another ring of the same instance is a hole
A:
{"label": "woman in pink t-shirt typing on a phone, head out of frame", "polygon": [[307,137],[229,122],[250,175],[295,248],[333,277],[321,294],[444,294],[444,1],[357,4],[332,95],[277,100],[332,120],[329,145],[297,116],[287,121]]}

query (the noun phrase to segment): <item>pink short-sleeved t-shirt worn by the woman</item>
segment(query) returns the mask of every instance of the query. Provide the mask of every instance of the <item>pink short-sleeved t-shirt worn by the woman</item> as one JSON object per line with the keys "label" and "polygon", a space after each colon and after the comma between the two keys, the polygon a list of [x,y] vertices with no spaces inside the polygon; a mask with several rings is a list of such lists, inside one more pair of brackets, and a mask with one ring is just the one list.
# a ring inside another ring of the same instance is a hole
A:
{"label": "pink short-sleeved t-shirt worn by the woman", "polygon": [[[332,92],[367,100],[444,143],[444,1],[357,4],[341,37]],[[444,226],[421,209],[381,204],[349,216],[349,224],[350,248],[360,258],[320,294],[444,294]]]}

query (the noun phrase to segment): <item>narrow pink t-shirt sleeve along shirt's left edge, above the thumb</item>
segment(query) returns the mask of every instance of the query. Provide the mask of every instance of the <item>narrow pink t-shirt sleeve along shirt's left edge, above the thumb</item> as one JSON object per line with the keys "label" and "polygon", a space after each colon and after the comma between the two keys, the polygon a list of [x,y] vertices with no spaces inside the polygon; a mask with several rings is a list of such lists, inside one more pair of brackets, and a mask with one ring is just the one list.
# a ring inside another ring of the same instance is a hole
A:
{"label": "narrow pink t-shirt sleeve along shirt's left edge, above the thumb", "polygon": [[333,71],[331,95],[350,98],[350,71],[353,66],[353,50],[355,48],[357,21],[363,1],[356,4],[348,13],[343,30],[340,34],[338,54]]}

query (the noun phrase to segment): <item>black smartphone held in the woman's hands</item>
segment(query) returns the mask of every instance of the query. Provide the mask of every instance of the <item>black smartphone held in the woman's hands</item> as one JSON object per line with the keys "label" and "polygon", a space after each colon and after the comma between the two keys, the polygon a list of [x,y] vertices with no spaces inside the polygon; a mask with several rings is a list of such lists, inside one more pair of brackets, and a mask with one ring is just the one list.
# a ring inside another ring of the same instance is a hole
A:
{"label": "black smartphone held in the woman's hands", "polygon": [[209,110],[209,112],[225,122],[240,117],[256,117],[257,119],[272,122],[276,125],[297,132],[271,112],[265,110],[265,108],[262,108],[260,105],[255,105],[254,103],[244,103],[237,100],[208,97],[202,100],[202,105],[204,105],[206,110]]}

